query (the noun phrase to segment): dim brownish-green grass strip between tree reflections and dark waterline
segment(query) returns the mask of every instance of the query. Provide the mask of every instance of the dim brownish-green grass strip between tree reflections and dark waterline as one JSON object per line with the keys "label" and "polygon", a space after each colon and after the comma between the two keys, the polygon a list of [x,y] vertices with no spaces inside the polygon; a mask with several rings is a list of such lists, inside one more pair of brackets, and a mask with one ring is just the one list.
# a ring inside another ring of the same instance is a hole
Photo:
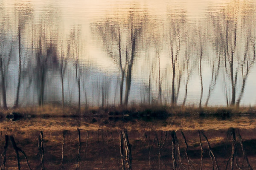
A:
{"label": "dim brownish-green grass strip between tree reflections and dark waterline", "polygon": [[233,116],[256,114],[255,107],[193,107],[193,106],[158,106],[158,105],[132,105],[81,108],[64,107],[58,105],[45,105],[24,108],[0,109],[0,113],[8,115],[11,112],[32,116],[91,116],[91,115],[138,115],[138,116],[170,116],[170,115],[199,115],[199,116]]}

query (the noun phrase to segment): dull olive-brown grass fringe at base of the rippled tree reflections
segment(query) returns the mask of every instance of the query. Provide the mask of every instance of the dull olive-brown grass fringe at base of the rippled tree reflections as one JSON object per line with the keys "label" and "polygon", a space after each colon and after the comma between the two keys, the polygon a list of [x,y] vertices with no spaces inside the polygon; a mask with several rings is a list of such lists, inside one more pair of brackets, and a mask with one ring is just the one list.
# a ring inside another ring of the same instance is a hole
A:
{"label": "dull olive-brown grass fringe at base of the rippled tree reflections", "polygon": [[108,107],[81,107],[80,111],[76,107],[64,107],[60,105],[44,105],[44,106],[29,106],[24,108],[0,108],[0,113],[9,114],[10,112],[26,113],[36,116],[48,115],[48,116],[70,116],[70,115],[82,115],[86,116],[86,113],[99,113],[106,114],[109,112],[118,111],[130,111],[130,112],[142,112],[142,111],[165,111],[171,114],[190,114],[190,113],[230,113],[230,114],[254,114],[256,113],[255,107],[202,107],[195,106],[159,106],[159,105],[131,105],[131,106],[108,106]]}

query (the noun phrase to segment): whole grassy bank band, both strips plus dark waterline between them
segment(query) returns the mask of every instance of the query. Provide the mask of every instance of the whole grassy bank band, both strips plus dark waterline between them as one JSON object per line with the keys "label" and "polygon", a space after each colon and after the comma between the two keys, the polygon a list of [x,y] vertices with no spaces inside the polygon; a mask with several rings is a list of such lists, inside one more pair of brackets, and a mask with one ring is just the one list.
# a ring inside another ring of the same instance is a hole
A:
{"label": "whole grassy bank band, both strips plus dark waterline between them", "polygon": [[[23,115],[19,121],[5,116],[10,112]],[[220,130],[236,127],[256,128],[254,108],[195,108],[167,106],[129,106],[76,108],[44,106],[2,110],[0,130]]]}

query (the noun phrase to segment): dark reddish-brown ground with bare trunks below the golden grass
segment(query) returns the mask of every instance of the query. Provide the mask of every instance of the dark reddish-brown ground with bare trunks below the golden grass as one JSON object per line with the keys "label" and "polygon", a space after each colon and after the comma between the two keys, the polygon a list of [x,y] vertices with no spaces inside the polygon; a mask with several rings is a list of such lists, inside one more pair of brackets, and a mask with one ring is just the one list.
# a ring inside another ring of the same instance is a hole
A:
{"label": "dark reddish-brown ground with bare trunks below the golden grass", "polygon": [[232,127],[207,131],[20,132],[5,135],[1,142],[1,169],[252,170],[256,166],[256,139],[250,134],[255,130],[241,131],[243,137]]}

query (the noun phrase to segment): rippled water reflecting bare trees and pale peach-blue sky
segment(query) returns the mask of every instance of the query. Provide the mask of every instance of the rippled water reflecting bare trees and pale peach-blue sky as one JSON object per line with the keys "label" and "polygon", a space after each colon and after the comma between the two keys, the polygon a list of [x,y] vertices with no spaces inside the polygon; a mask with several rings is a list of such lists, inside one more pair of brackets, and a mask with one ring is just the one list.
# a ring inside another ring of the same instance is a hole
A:
{"label": "rippled water reflecting bare trees and pale peach-blue sky", "polygon": [[254,0],[1,0],[2,107],[255,105]]}

